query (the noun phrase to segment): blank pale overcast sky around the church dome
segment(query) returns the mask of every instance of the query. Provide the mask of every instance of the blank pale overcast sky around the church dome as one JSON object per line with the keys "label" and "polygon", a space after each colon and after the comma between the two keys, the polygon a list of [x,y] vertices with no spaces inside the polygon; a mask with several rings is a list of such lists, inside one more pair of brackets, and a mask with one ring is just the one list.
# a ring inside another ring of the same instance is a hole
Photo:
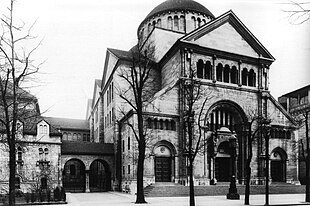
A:
{"label": "blank pale overcast sky around the church dome", "polygon": [[[0,12],[4,4],[0,1]],[[16,17],[42,39],[34,58],[46,60],[39,87],[44,116],[82,118],[101,79],[107,48],[129,50],[137,28],[163,0],[18,0]],[[310,21],[293,25],[283,10],[286,0],[197,0],[216,17],[233,10],[276,58],[270,68],[270,91],[282,94],[310,84]]]}

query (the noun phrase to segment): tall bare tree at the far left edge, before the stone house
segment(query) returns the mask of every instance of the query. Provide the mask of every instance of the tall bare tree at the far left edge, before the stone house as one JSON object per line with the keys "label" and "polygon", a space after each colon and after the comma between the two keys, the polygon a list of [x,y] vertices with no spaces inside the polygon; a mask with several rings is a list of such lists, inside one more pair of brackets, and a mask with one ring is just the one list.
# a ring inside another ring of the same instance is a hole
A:
{"label": "tall bare tree at the far left edge, before the stone house", "polygon": [[5,134],[2,143],[7,144],[9,150],[9,205],[15,205],[18,131],[22,123],[37,114],[36,98],[22,87],[39,70],[39,66],[34,66],[31,60],[39,44],[26,50],[26,42],[34,38],[30,35],[32,27],[25,30],[23,23],[21,26],[15,23],[15,3],[11,0],[8,14],[1,17],[0,36],[0,122]]}

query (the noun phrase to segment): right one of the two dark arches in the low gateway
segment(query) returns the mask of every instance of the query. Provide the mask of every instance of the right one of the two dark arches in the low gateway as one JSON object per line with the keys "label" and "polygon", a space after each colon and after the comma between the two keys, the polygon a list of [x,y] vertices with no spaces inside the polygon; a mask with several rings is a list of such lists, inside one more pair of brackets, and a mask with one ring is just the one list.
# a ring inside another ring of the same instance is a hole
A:
{"label": "right one of the two dark arches in the low gateway", "polygon": [[95,160],[89,168],[89,189],[91,192],[111,190],[111,173],[108,164],[103,160]]}

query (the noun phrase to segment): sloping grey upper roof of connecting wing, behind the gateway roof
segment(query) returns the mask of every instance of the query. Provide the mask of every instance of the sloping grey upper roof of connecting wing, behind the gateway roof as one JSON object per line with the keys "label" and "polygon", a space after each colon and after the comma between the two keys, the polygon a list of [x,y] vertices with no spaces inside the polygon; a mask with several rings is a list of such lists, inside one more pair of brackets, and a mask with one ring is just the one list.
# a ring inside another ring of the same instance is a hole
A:
{"label": "sloping grey upper roof of connecting wing, behind the gateway roof", "polygon": [[88,130],[89,122],[83,119],[68,119],[58,117],[43,117],[46,122],[59,129]]}

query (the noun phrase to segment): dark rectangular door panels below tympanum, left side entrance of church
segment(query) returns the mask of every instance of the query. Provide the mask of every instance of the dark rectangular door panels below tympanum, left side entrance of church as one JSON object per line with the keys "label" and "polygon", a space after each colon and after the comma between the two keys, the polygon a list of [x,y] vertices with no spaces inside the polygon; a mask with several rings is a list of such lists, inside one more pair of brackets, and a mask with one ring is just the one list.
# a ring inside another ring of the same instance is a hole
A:
{"label": "dark rectangular door panels below tympanum, left side entrance of church", "polygon": [[155,181],[171,182],[170,157],[155,157]]}

